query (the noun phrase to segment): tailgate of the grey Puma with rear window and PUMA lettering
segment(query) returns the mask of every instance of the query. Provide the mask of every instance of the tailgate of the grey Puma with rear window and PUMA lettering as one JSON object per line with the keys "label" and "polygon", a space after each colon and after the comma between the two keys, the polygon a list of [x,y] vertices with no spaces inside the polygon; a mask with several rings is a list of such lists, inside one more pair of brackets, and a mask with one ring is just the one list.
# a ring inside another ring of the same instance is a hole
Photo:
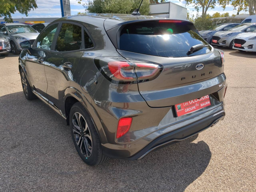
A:
{"label": "tailgate of the grey Puma with rear window and PUMA lettering", "polygon": [[[138,82],[140,94],[150,107],[172,106],[220,89],[215,86],[206,92],[198,92],[223,81],[223,77],[218,77],[223,73],[223,66],[220,52],[208,45],[189,21],[137,21],[116,26],[107,33],[125,59],[162,66],[156,78]],[[188,53],[198,44],[206,46]],[[200,84],[214,77],[217,78],[215,83]]]}

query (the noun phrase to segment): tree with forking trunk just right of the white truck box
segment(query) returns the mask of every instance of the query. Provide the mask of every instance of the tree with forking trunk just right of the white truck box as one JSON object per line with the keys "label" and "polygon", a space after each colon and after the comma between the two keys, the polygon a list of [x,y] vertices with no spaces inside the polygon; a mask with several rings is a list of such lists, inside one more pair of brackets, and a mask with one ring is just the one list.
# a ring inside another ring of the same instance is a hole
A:
{"label": "tree with forking trunk just right of the white truck box", "polygon": [[[180,0],[181,1],[181,0]],[[228,1],[228,0],[223,0]],[[209,8],[214,9],[217,0],[185,0],[186,4],[195,4],[196,11],[202,8],[202,18],[206,17],[206,12]]]}

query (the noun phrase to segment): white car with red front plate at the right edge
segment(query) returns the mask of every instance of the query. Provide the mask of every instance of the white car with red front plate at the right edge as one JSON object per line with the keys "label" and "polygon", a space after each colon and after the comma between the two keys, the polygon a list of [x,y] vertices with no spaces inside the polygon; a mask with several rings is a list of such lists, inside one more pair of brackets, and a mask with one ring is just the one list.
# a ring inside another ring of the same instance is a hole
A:
{"label": "white car with red front plate at the right edge", "polygon": [[256,30],[237,35],[234,39],[233,49],[256,52]]}

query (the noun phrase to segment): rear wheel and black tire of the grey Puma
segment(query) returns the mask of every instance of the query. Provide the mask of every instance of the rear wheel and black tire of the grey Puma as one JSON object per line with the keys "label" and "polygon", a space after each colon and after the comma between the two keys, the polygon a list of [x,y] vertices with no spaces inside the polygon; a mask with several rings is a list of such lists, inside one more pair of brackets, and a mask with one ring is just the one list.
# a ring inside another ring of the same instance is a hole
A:
{"label": "rear wheel and black tire of the grey Puma", "polygon": [[80,102],[72,106],[69,122],[76,151],[86,164],[99,165],[109,159],[103,155],[100,137],[92,118]]}

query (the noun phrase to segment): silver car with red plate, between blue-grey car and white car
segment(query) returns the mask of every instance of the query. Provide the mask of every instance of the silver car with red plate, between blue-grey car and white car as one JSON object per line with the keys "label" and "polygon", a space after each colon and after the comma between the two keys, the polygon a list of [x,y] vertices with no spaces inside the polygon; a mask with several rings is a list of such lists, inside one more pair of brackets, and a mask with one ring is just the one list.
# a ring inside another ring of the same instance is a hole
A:
{"label": "silver car with red plate, between blue-grey car and white car", "polygon": [[240,33],[256,30],[256,23],[243,23],[227,31],[220,31],[212,36],[212,45],[233,48],[235,37]]}

